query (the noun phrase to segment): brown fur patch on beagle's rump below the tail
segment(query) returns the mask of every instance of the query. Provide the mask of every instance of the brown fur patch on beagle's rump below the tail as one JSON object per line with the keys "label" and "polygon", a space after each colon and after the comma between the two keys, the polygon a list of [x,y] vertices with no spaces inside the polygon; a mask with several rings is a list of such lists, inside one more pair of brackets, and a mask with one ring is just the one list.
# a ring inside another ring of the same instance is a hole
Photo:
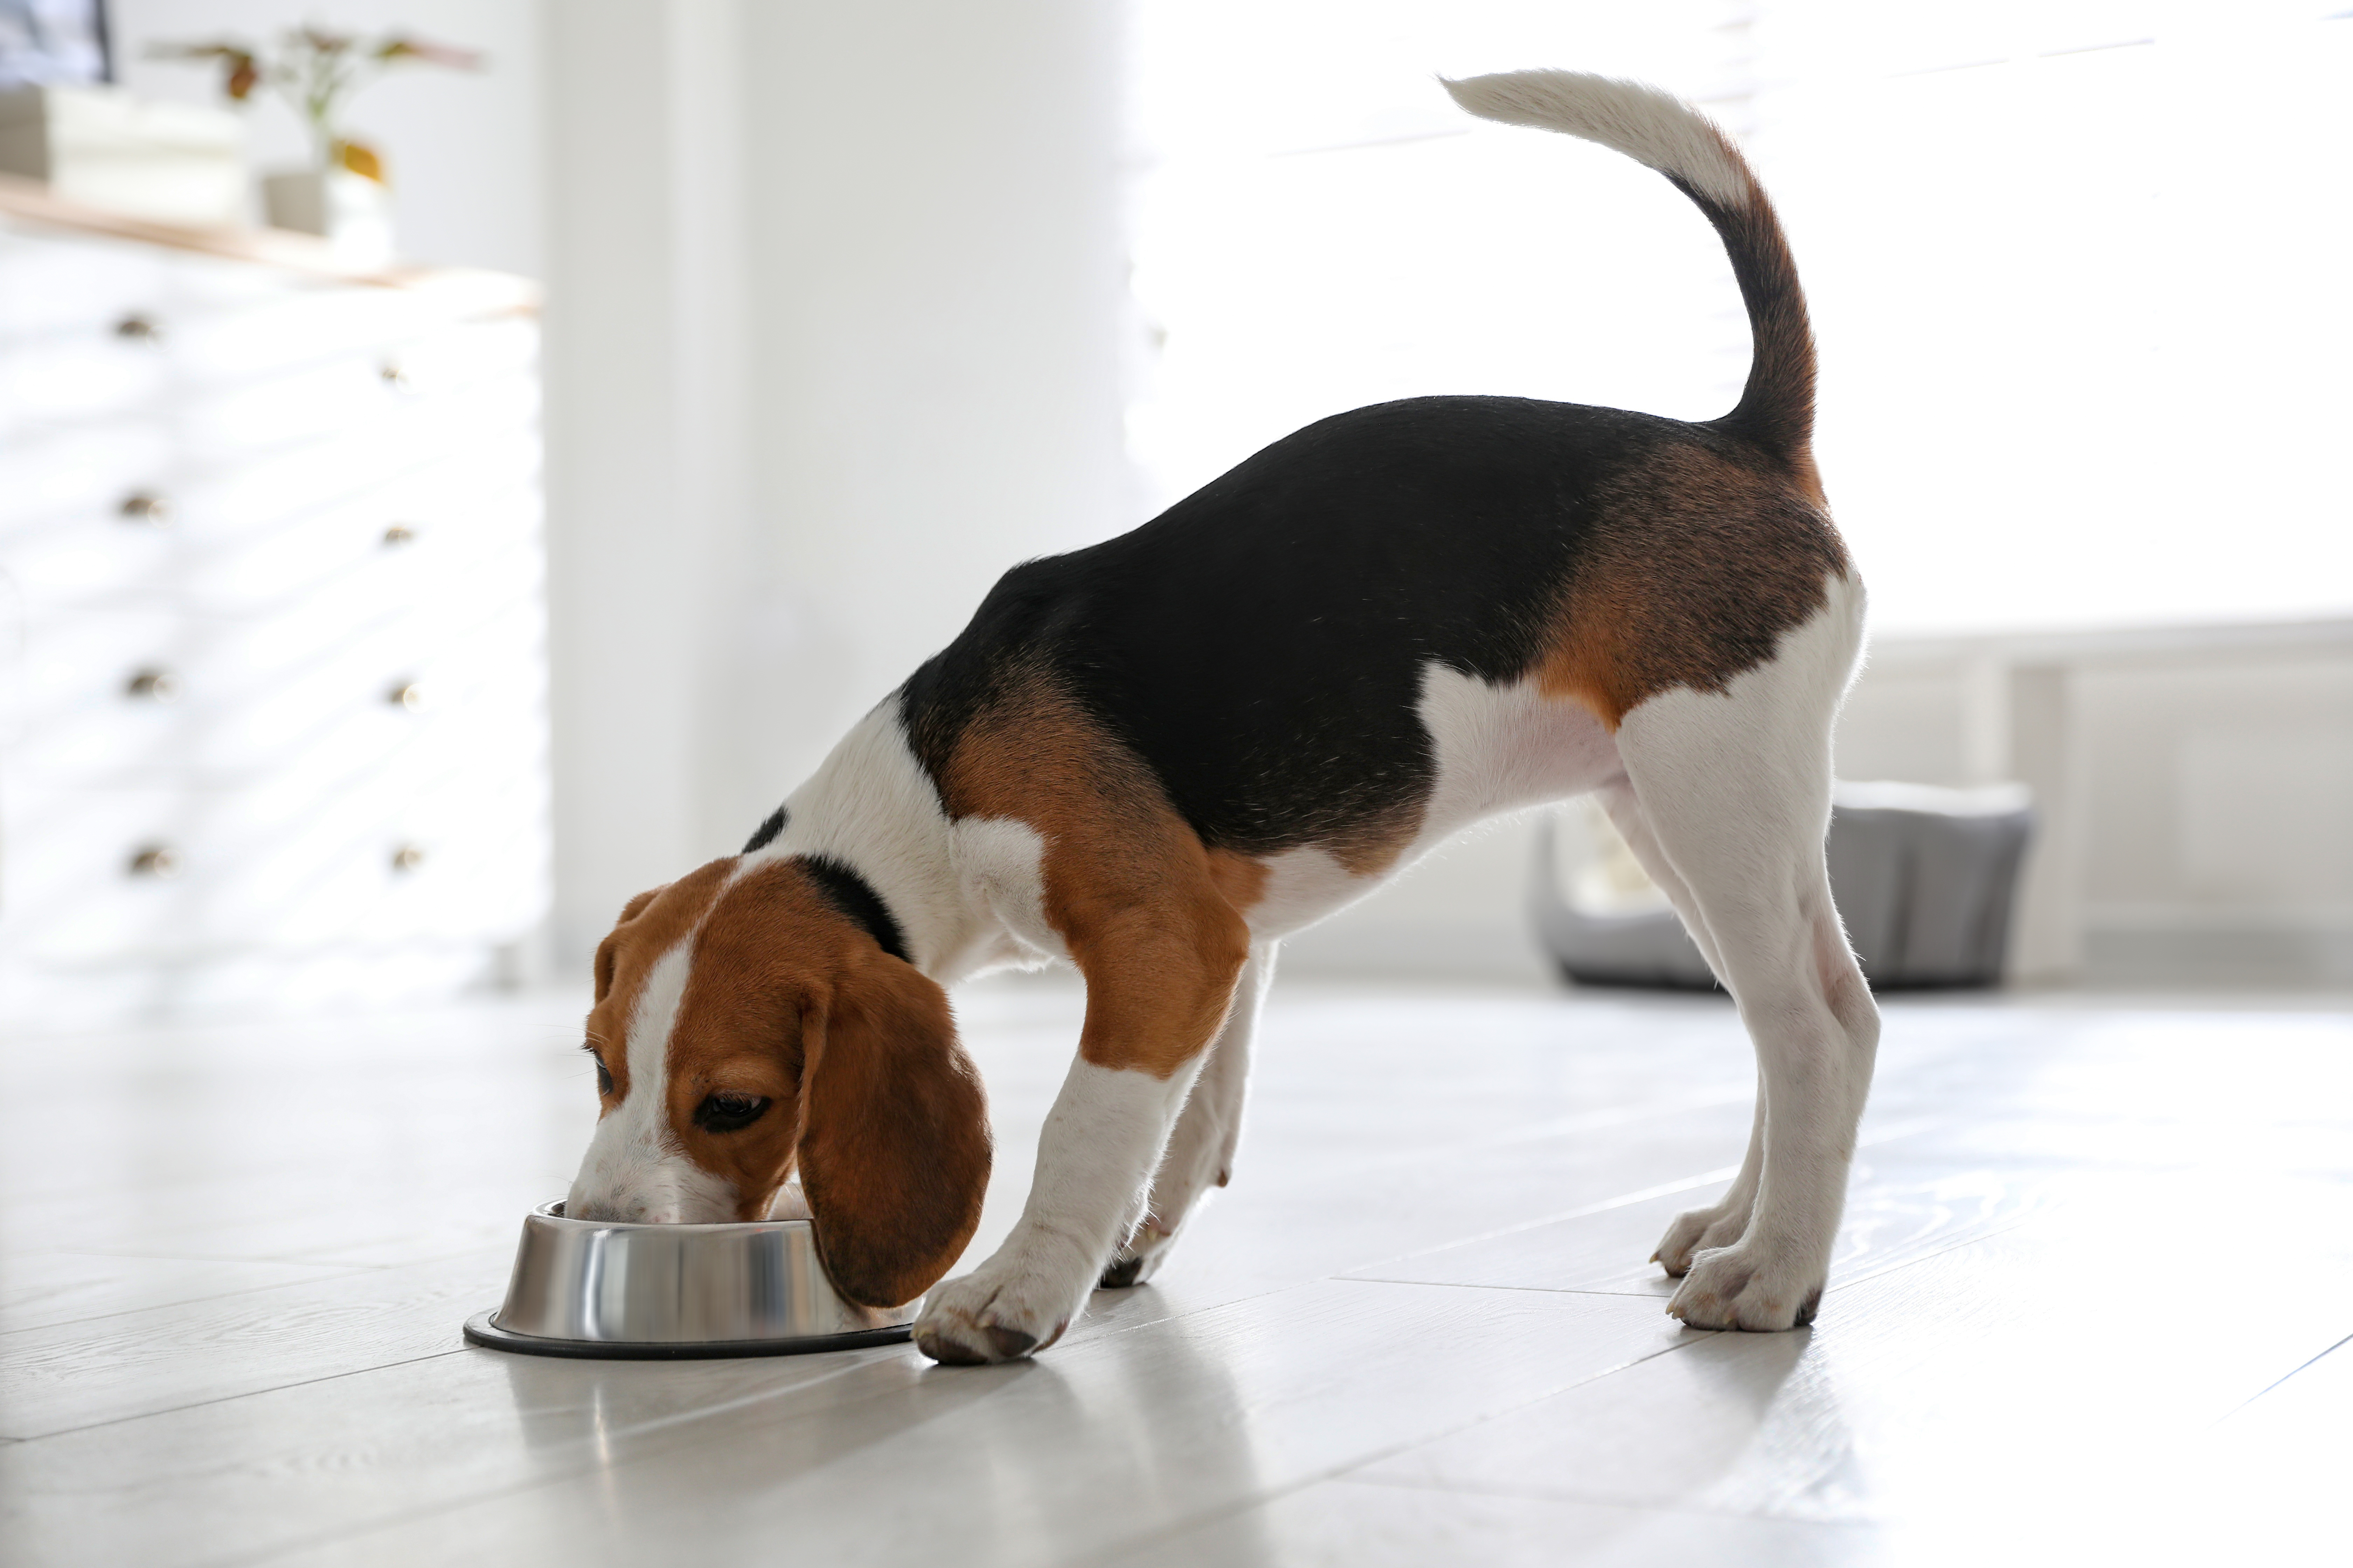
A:
{"label": "brown fur patch on beagle's rump below the tail", "polygon": [[1722,691],[1845,574],[1838,529],[1788,475],[1666,447],[1595,496],[1539,691],[1577,698],[1609,729],[1671,686]]}

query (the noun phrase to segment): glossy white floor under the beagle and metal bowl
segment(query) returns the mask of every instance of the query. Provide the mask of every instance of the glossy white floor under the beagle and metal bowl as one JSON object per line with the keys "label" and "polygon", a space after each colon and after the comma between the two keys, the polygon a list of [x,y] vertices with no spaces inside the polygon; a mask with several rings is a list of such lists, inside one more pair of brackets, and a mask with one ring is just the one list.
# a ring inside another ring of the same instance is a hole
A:
{"label": "glossy white floor under the beagle and metal bowl", "polygon": [[[1078,994],[960,1006],[991,1246]],[[576,1016],[7,1041],[0,1561],[2353,1561],[2353,1006],[1894,999],[1821,1324],[1706,1335],[1725,1004],[1278,985],[1233,1190],[1007,1368],[461,1347]]]}

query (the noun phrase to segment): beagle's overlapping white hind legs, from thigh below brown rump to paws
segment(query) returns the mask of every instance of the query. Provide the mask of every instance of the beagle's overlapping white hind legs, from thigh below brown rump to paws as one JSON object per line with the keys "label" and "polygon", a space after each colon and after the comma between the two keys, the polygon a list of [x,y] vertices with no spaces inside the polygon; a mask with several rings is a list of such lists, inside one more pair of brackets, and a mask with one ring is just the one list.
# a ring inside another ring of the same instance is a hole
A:
{"label": "beagle's overlapping white hind legs, from thigh below brown rump to paws", "polygon": [[1697,1211],[1704,1222],[1678,1218],[1659,1246],[1671,1269],[1689,1269],[1668,1312],[1694,1328],[1814,1316],[1871,1088],[1878,1009],[1824,863],[1831,719],[1859,621],[1842,588],[1725,691],[1666,691],[1619,726],[1649,853],[1689,900],[1685,919],[1758,1051],[1760,1121],[1741,1178],[1715,1211]]}

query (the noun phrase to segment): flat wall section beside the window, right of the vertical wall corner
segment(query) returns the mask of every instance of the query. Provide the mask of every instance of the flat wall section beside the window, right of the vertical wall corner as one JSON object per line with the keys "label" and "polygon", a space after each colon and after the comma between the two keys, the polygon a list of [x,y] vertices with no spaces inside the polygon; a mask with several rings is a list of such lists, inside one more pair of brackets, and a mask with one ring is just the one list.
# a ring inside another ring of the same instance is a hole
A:
{"label": "flat wall section beside the window, right of the vertical wall corner", "polygon": [[[758,820],[1007,567],[1141,522],[1120,7],[758,5]],[[751,825],[748,820],[744,823]]]}

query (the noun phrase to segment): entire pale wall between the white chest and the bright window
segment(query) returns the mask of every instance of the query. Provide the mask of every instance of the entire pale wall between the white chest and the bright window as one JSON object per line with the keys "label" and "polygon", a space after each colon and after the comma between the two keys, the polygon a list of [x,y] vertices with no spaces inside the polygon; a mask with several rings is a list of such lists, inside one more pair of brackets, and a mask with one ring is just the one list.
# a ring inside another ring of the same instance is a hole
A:
{"label": "entire pale wall between the white chest and the bright window", "polygon": [[1136,522],[1118,7],[546,12],[558,950]]}

